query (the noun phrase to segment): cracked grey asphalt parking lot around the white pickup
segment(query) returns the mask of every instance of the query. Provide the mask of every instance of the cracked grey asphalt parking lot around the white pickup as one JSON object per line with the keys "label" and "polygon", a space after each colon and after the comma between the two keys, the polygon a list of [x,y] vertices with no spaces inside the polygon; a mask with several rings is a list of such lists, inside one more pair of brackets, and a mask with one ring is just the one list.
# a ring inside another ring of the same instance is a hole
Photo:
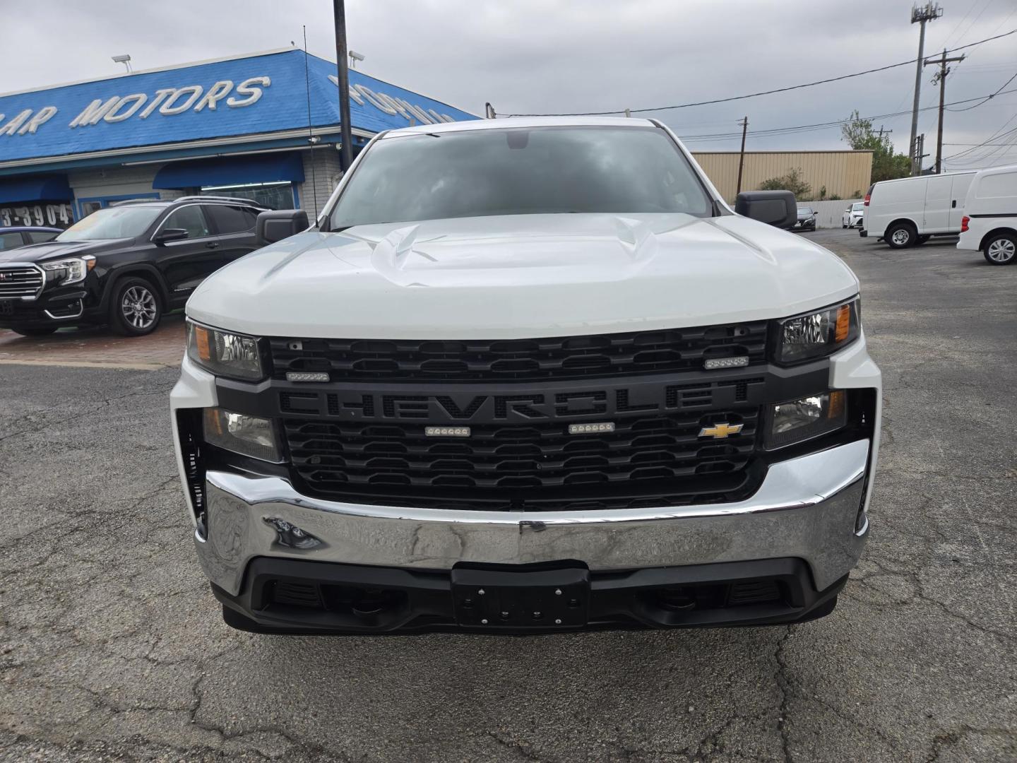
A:
{"label": "cracked grey asphalt parking lot around the white pickup", "polygon": [[862,562],[790,628],[232,631],[177,481],[176,372],[122,343],[23,364],[43,345],[0,336],[0,760],[1017,759],[1017,267],[803,235],[862,281],[886,408]]}

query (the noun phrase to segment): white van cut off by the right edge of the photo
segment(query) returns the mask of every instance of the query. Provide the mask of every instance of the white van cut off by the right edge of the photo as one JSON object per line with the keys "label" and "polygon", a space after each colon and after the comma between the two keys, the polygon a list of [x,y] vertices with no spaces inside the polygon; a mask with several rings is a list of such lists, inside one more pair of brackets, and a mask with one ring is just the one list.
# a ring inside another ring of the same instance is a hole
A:
{"label": "white van cut off by the right edge of the photo", "polygon": [[975,174],[964,201],[958,249],[981,249],[990,265],[1017,261],[1017,165]]}

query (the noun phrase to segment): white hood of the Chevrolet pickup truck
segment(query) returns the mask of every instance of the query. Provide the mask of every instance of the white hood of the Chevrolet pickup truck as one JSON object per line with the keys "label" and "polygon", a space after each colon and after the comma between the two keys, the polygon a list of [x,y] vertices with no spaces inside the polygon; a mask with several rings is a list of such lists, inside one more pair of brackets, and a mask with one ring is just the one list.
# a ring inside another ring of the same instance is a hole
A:
{"label": "white hood of the Chevrolet pickup truck", "polygon": [[857,293],[836,255],[739,216],[513,215],[306,231],[187,313],[259,336],[501,339],[791,315]]}

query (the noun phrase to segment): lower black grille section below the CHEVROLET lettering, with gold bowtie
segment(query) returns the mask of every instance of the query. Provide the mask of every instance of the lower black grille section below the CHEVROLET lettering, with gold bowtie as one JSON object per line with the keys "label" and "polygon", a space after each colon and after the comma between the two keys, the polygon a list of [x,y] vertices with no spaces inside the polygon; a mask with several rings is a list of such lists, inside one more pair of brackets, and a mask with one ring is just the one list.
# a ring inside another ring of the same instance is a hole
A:
{"label": "lower black grille section below the CHEVROLET lettering, with gold bowtie", "polygon": [[[558,421],[471,426],[426,436],[420,423],[283,420],[296,475],[311,492],[357,503],[559,511],[731,500],[745,484],[758,409],[630,416],[612,432]],[[716,423],[742,424],[724,439]]]}

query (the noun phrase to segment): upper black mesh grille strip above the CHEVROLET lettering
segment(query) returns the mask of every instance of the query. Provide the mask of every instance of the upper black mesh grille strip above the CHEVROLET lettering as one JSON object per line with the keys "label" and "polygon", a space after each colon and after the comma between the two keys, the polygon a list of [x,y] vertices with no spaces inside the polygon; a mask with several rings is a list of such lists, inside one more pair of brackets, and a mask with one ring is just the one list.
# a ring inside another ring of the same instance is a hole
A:
{"label": "upper black mesh grille strip above the CHEVROLET lettering", "polygon": [[704,360],[766,360],[767,324],[513,340],[270,340],[276,378],[327,371],[334,382],[539,382],[699,370]]}

